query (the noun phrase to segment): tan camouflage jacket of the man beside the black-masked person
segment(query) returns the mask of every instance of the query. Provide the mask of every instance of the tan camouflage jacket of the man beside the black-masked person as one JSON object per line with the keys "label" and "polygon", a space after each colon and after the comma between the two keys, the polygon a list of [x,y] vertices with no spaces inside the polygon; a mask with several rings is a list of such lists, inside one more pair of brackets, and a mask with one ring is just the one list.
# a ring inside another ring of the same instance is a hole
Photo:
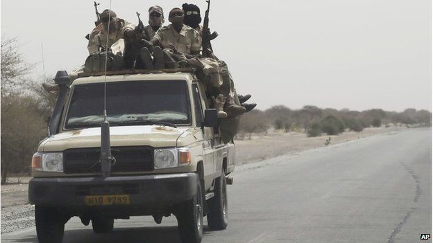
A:
{"label": "tan camouflage jacket of the man beside the black-masked person", "polygon": [[162,48],[171,48],[174,46],[178,52],[191,54],[192,51],[201,51],[201,37],[196,30],[186,26],[182,26],[182,30],[178,33],[171,24],[162,27],[155,33],[153,37],[158,39]]}

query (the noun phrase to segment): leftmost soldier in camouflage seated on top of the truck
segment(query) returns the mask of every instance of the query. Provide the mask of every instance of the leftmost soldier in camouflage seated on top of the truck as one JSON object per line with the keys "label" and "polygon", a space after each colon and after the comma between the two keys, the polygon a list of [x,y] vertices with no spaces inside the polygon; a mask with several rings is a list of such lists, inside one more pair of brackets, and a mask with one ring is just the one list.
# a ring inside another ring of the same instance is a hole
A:
{"label": "leftmost soldier in camouflage seated on top of the truck", "polygon": [[[108,22],[110,21],[110,33],[108,32]],[[103,10],[101,12],[101,24],[96,26],[92,33],[90,34],[89,44],[87,44],[87,49],[89,54],[93,54],[99,51],[100,48],[108,50],[108,48],[116,48],[116,51],[121,51],[123,53],[124,42],[120,39],[130,39],[134,35],[135,25],[126,21],[125,19],[118,18],[116,13],[112,10]],[[108,46],[107,46],[108,38]],[[117,53],[113,51],[113,53]]]}

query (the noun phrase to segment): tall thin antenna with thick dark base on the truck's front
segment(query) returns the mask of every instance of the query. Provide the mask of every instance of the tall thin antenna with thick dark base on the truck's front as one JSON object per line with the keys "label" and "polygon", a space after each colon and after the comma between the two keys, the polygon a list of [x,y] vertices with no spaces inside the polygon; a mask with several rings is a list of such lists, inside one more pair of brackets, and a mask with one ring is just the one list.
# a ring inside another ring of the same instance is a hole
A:
{"label": "tall thin antenna with thick dark base on the truck's front", "polygon": [[107,61],[108,61],[108,35],[110,33],[110,18],[111,18],[111,0],[110,12],[108,12],[108,28],[107,28],[107,42],[105,44],[105,71],[104,71],[104,109],[103,109],[103,122],[101,123],[101,172],[103,177],[108,177],[111,172],[111,163],[114,160],[111,156],[110,147],[110,123],[107,120]]}

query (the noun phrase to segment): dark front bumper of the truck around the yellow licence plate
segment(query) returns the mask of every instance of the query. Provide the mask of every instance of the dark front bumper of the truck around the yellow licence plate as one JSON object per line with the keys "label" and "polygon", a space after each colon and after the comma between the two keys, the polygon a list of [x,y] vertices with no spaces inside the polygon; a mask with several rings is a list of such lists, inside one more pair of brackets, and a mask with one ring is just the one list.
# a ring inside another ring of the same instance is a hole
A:
{"label": "dark front bumper of the truck around the yellow licence plate", "polygon": [[37,206],[83,208],[86,196],[129,195],[130,204],[125,206],[164,207],[192,199],[196,183],[195,173],[33,178],[28,184],[28,200]]}

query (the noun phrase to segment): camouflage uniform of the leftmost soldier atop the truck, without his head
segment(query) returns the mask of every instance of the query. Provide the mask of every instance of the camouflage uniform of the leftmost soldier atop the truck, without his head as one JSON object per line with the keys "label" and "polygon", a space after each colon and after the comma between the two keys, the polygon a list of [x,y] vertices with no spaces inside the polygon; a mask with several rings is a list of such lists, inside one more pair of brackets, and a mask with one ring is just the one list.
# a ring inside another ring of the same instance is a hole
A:
{"label": "camouflage uniform of the leftmost soldier atop the truck, without his head", "polygon": [[103,46],[106,48],[107,38],[108,38],[108,47],[110,48],[114,43],[119,41],[119,39],[124,37],[125,30],[134,30],[135,25],[124,20],[117,18],[116,26],[112,33],[107,36],[107,33],[103,29],[103,24],[99,24],[96,26],[92,33],[90,34],[89,44],[87,44],[87,49],[89,50],[89,54],[96,53],[99,51],[99,46]]}

